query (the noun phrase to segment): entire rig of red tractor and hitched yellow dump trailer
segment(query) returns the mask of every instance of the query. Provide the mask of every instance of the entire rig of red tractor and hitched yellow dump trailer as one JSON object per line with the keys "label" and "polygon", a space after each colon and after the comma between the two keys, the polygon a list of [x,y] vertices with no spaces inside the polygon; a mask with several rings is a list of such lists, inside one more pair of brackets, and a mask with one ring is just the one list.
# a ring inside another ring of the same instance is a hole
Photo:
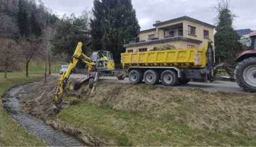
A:
{"label": "entire rig of red tractor and hitched yellow dump trailer", "polygon": [[[247,92],[256,92],[256,33],[251,35],[251,50],[236,57],[235,68],[222,63],[215,65],[215,49],[211,42],[204,49],[171,49],[122,53],[122,65],[128,72],[130,83],[165,86],[187,84],[191,80],[213,82],[236,81]],[[216,76],[218,69],[226,69],[229,77]]]}

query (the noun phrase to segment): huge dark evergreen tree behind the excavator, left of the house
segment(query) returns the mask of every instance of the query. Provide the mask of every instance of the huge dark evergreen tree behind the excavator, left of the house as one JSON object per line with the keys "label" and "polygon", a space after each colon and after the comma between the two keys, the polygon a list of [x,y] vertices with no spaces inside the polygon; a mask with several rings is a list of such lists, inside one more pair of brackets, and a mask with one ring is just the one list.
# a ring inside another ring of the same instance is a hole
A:
{"label": "huge dark evergreen tree behind the excavator, left of the house", "polygon": [[124,39],[138,36],[140,30],[132,1],[95,0],[93,16],[93,49],[111,51],[116,63],[120,63],[120,53],[125,51]]}

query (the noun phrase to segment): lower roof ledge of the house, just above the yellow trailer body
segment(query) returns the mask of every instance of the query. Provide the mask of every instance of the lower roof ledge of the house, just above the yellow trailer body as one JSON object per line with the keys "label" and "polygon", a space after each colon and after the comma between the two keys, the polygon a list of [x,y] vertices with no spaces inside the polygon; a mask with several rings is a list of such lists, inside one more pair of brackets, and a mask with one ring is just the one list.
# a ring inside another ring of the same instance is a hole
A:
{"label": "lower roof ledge of the house, just above the yellow trailer body", "polygon": [[157,39],[157,40],[151,40],[151,41],[145,41],[145,42],[131,43],[131,44],[128,44],[128,45],[124,45],[124,47],[138,47],[138,46],[143,46],[143,45],[154,45],[154,44],[158,44],[158,43],[178,41],[178,40],[183,40],[183,41],[187,41],[187,42],[194,42],[194,43],[197,43],[197,44],[202,43],[201,40],[195,40],[195,39],[191,39],[191,38],[178,36],[178,37],[172,37],[172,38],[163,38],[163,39]]}

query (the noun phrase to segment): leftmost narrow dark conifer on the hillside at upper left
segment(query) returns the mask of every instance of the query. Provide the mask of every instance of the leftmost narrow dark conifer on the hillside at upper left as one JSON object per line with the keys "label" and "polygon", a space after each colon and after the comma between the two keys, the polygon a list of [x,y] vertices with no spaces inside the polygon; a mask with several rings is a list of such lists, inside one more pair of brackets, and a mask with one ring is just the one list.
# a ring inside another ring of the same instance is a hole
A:
{"label": "leftmost narrow dark conifer on the hillside at upper left", "polygon": [[30,34],[28,13],[26,11],[26,0],[19,0],[18,3],[18,27],[20,35],[28,37]]}

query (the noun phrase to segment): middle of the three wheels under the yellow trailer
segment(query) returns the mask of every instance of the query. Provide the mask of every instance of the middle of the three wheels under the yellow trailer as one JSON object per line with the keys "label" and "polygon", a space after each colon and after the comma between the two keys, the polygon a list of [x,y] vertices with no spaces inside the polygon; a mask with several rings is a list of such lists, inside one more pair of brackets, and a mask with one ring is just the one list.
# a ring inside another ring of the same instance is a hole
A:
{"label": "middle of the three wheels under the yellow trailer", "polygon": [[160,80],[159,73],[157,73],[157,71],[147,70],[144,73],[144,81],[146,84],[154,85],[154,84],[157,84],[159,80]]}

